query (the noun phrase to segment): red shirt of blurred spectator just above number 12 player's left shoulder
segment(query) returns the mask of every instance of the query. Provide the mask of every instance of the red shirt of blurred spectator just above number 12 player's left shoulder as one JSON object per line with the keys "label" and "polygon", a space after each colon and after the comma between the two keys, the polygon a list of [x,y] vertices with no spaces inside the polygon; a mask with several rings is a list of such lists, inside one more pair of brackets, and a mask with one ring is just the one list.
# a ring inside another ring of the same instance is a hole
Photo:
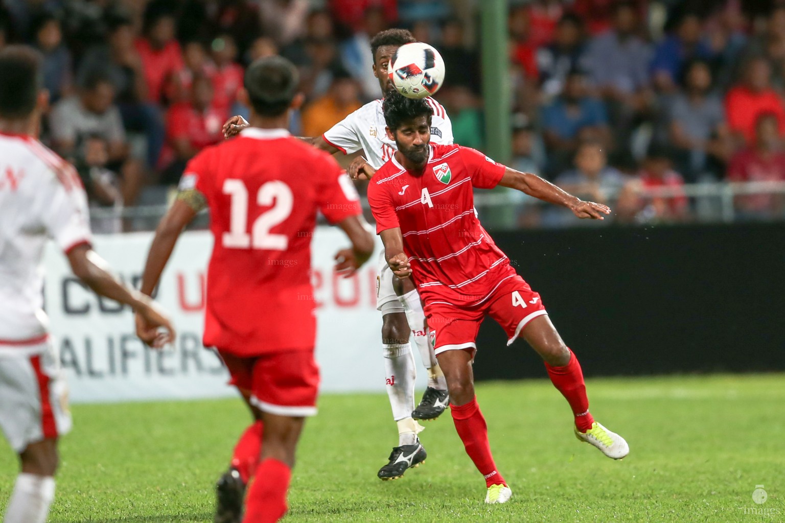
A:
{"label": "red shirt of blurred spectator just above number 12 player's left shoulder", "polygon": [[190,102],[174,105],[166,114],[166,138],[188,138],[192,147],[203,149],[224,139],[221,131],[228,112],[218,107],[197,111]]}

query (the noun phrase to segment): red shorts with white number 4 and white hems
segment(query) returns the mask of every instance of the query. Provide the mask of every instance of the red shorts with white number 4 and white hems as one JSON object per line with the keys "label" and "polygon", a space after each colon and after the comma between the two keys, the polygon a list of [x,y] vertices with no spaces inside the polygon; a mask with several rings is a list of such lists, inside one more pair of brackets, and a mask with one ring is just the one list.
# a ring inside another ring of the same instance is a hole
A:
{"label": "red shorts with white number 4 and white hems", "polygon": [[476,350],[477,332],[486,314],[507,332],[507,345],[516,340],[529,321],[548,314],[539,294],[531,290],[518,274],[495,285],[498,285],[495,291],[470,307],[458,307],[438,299],[425,303],[425,316],[435,354],[445,350]]}

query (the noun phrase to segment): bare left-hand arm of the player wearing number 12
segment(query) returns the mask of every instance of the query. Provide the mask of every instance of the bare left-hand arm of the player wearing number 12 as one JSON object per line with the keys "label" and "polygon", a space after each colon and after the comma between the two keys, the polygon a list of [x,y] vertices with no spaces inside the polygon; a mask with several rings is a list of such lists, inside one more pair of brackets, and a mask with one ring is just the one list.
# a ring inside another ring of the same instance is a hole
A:
{"label": "bare left-hand arm of the player wearing number 12", "polygon": [[[201,205],[203,202],[199,200],[197,191],[181,191],[177,195],[177,200],[161,219],[155,229],[155,237],[152,239],[147,261],[144,263],[140,289],[143,294],[152,296],[161,278],[163,267],[166,267],[166,262],[172,255],[177,238],[180,237],[185,226],[194,219]],[[149,345],[152,341],[153,325],[144,314],[136,315],[136,324],[137,336]]]}

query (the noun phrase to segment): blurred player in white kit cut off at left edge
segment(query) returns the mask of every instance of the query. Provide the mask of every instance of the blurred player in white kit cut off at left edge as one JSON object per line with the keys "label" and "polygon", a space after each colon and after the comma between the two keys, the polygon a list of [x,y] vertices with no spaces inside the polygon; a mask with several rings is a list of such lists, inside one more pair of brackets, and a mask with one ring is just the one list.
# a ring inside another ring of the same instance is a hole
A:
{"label": "blurred player in white kit cut off at left edge", "polygon": [[[5,523],[46,521],[57,438],[71,429],[60,356],[42,309],[46,242],[57,243],[74,274],[95,292],[152,321],[145,342],[161,347],[174,336],[155,303],[122,285],[90,249],[79,176],[35,138],[48,97],[42,76],[33,49],[15,45],[0,52],[0,429],[21,465]],[[166,332],[159,334],[159,327]]]}

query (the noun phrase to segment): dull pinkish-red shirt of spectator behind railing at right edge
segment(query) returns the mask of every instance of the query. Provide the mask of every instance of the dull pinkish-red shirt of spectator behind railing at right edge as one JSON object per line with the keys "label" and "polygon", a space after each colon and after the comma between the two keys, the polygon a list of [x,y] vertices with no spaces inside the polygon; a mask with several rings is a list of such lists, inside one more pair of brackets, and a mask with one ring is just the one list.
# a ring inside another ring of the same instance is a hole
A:
{"label": "dull pinkish-red shirt of spectator behind railing at right edge", "polygon": [[[774,152],[763,156],[754,149],[736,153],[728,165],[731,182],[781,182],[785,181],[785,153]],[[739,209],[767,212],[776,203],[772,194],[750,194],[736,198]]]}

